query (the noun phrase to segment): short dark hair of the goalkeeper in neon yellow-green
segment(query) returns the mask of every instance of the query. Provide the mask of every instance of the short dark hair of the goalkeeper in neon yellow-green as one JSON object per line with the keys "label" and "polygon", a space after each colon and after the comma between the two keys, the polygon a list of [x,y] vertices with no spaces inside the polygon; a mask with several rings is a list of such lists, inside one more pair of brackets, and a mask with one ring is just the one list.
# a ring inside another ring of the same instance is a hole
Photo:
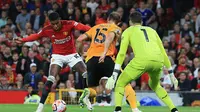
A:
{"label": "short dark hair of the goalkeeper in neon yellow-green", "polygon": [[132,23],[141,23],[142,22],[142,15],[139,12],[134,12],[130,14],[129,19]]}

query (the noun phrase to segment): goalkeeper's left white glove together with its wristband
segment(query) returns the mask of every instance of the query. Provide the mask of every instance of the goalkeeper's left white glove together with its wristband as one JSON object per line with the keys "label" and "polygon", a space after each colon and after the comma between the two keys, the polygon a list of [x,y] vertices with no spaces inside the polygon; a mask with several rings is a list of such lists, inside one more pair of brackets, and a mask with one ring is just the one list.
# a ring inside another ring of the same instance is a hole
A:
{"label": "goalkeeper's left white glove together with its wristband", "polygon": [[115,64],[115,68],[111,77],[108,78],[106,83],[106,89],[112,90],[115,87],[117,81],[118,73],[120,72],[121,65]]}

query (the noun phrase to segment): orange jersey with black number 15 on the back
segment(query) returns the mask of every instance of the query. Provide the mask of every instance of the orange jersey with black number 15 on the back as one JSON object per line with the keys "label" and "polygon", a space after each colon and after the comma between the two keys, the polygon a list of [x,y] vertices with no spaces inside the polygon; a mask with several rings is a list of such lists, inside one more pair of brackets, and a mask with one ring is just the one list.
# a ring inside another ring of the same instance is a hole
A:
{"label": "orange jersey with black number 15 on the back", "polygon": [[115,53],[115,45],[117,41],[117,37],[121,35],[121,28],[115,24],[99,24],[92,27],[85,34],[92,40],[90,44],[90,48],[87,51],[86,61],[88,61],[93,56],[101,56],[104,52],[104,43],[107,38],[108,33],[114,32],[116,37],[114,41],[111,43],[109,50],[107,52],[107,56],[113,56]]}

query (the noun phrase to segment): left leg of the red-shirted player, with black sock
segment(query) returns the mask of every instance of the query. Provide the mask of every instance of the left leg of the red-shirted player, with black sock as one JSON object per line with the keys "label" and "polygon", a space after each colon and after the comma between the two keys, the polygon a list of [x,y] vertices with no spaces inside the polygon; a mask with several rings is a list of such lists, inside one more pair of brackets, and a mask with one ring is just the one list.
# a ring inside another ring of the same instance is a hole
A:
{"label": "left leg of the red-shirted player, with black sock", "polygon": [[56,64],[50,65],[49,76],[48,76],[47,82],[45,83],[45,86],[42,90],[42,97],[40,99],[40,103],[39,103],[39,106],[38,106],[36,112],[43,111],[44,103],[47,99],[49,92],[51,91],[51,87],[52,87],[53,83],[56,81],[55,77],[57,74],[59,74],[60,70],[61,70],[61,67],[59,65],[56,65]]}

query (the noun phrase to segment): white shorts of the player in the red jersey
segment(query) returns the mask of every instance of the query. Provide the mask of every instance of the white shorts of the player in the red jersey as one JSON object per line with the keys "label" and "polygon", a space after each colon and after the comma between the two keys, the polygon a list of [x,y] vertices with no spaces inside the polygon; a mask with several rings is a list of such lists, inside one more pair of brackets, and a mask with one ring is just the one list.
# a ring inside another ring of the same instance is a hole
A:
{"label": "white shorts of the player in the red jersey", "polygon": [[59,65],[63,67],[64,64],[69,65],[69,67],[73,67],[76,63],[82,61],[83,59],[80,57],[78,53],[70,54],[70,55],[59,55],[59,54],[52,54],[51,64]]}

